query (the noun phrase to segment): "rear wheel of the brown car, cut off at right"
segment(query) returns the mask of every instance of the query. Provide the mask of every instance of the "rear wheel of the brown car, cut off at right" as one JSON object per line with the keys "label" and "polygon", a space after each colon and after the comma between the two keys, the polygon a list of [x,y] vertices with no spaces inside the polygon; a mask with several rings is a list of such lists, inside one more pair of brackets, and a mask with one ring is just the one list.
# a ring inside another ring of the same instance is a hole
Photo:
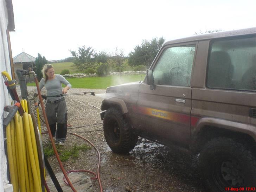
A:
{"label": "rear wheel of the brown car, cut off at right", "polygon": [[218,137],[209,141],[200,152],[199,168],[212,192],[256,186],[255,158],[232,139]]}

